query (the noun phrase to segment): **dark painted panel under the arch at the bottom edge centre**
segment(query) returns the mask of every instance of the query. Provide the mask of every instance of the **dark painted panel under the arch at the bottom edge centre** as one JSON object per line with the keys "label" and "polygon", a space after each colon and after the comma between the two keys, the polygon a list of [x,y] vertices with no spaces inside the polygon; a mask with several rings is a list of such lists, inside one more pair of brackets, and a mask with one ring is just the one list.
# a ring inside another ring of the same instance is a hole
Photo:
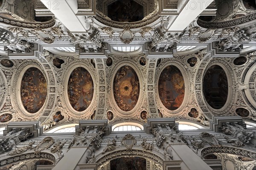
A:
{"label": "dark painted panel under the arch at the bottom edge centre", "polygon": [[140,157],[121,157],[110,161],[111,170],[146,170],[146,159]]}

